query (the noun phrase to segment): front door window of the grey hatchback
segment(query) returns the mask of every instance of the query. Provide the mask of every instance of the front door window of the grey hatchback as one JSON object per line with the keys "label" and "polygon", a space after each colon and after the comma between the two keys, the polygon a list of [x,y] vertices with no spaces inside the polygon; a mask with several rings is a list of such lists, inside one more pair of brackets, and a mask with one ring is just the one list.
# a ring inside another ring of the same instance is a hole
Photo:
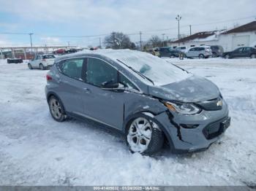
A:
{"label": "front door window of the grey hatchback", "polygon": [[88,58],[86,82],[97,87],[117,83],[117,70],[105,61]]}

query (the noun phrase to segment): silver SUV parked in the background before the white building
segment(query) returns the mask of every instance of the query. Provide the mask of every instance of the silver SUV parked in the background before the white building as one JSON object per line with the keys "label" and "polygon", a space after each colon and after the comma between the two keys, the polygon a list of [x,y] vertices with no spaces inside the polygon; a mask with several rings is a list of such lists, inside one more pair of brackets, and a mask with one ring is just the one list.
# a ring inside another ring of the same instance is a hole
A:
{"label": "silver SUV parked in the background before the white building", "polygon": [[186,52],[187,58],[209,58],[212,56],[211,47],[200,46],[200,47],[191,47]]}

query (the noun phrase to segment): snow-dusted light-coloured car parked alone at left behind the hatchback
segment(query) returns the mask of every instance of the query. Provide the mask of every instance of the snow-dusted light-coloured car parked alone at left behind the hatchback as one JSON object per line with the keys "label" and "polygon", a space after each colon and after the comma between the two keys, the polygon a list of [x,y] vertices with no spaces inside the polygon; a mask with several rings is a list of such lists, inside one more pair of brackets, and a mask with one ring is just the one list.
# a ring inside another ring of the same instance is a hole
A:
{"label": "snow-dusted light-coloured car parked alone at left behind the hatchback", "polygon": [[29,69],[50,69],[53,66],[55,56],[51,54],[36,55],[35,58],[28,63]]}

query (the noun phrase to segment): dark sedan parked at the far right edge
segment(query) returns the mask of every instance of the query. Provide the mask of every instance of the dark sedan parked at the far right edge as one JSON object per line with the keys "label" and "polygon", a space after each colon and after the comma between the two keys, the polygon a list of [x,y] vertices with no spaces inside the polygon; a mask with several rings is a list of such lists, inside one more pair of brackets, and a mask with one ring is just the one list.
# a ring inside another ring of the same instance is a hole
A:
{"label": "dark sedan parked at the far right edge", "polygon": [[256,58],[256,49],[254,47],[238,47],[236,50],[224,52],[223,58]]}

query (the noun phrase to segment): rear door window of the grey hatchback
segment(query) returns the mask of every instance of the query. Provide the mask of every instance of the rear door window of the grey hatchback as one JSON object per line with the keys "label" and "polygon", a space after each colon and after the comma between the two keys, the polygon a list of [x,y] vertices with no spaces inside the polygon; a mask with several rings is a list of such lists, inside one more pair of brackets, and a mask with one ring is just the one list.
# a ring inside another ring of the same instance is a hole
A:
{"label": "rear door window of the grey hatchback", "polygon": [[83,68],[83,58],[75,58],[75,59],[64,61],[63,63],[60,64],[60,67],[59,67],[59,69],[62,71],[63,74],[67,75],[68,77],[72,77],[80,80],[82,75],[82,68]]}

